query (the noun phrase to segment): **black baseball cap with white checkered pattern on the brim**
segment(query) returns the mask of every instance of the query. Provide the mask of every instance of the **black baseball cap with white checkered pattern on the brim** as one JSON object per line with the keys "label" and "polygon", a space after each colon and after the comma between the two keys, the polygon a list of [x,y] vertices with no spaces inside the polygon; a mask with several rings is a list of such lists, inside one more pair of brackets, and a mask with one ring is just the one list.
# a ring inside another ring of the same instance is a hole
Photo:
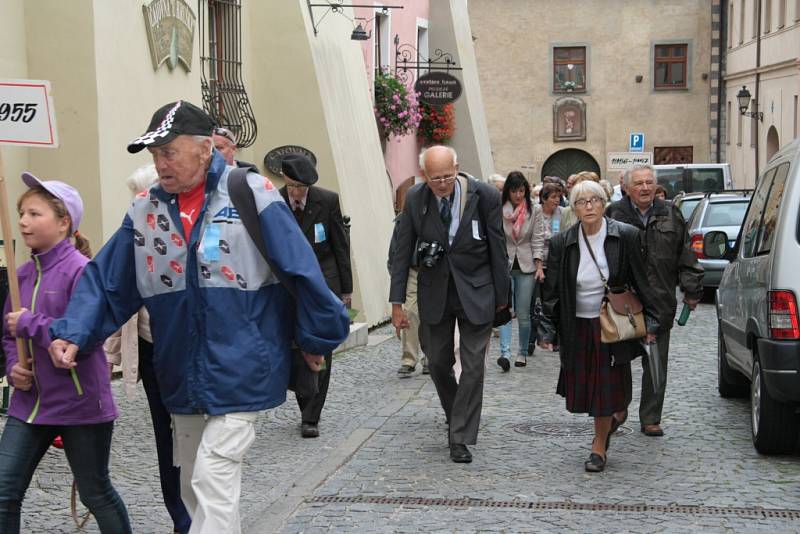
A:
{"label": "black baseball cap with white checkered pattern on the brim", "polygon": [[166,145],[179,135],[211,136],[214,121],[194,104],[184,100],[160,107],[150,120],[147,131],[128,143],[128,152],[135,154],[149,146]]}

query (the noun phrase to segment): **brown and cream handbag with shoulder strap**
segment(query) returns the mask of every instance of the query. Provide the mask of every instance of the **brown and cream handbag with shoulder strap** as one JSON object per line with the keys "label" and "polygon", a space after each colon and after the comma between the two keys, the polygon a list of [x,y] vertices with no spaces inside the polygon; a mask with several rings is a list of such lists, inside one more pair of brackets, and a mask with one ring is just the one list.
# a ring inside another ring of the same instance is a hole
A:
{"label": "brown and cream handbag with shoulder strap", "polygon": [[636,293],[629,288],[612,289],[608,286],[608,280],[603,276],[603,271],[594,257],[594,251],[589,244],[589,239],[581,226],[586,248],[589,255],[600,273],[600,279],[606,288],[603,303],[600,305],[600,341],[603,343],[618,343],[628,339],[639,339],[647,334],[644,324],[644,308],[636,296]]}

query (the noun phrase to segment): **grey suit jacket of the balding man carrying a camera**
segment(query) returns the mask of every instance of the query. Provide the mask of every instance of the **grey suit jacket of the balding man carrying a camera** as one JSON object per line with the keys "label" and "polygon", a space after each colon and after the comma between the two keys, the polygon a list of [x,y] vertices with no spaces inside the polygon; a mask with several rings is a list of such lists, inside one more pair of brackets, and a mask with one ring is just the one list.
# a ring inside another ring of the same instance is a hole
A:
{"label": "grey suit jacket of the balding man carrying a camera", "polygon": [[428,324],[442,320],[451,277],[464,313],[473,324],[492,322],[495,308],[508,304],[511,277],[500,193],[464,173],[459,173],[459,180],[461,219],[452,245],[439,217],[436,196],[427,184],[409,189],[400,219],[390,302],[405,302],[408,269],[417,241],[438,241],[445,249],[436,266],[420,268],[417,278],[420,320]]}

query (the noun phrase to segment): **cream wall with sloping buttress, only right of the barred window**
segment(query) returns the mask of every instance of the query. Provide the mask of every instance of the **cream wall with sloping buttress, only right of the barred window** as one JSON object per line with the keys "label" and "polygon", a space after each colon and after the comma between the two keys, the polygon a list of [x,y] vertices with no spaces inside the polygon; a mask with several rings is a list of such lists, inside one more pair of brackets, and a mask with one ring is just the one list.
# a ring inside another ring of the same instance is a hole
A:
{"label": "cream wall with sloping buttress, only right of the barred window", "polygon": [[[389,315],[386,252],[394,212],[352,26],[329,15],[315,37],[305,0],[245,6],[245,83],[259,122],[258,139],[243,159],[263,165],[267,152],[287,144],[316,155],[318,185],[340,194],[352,221],[353,307],[363,312],[358,320],[380,322]],[[315,10],[316,20],[324,11]]]}

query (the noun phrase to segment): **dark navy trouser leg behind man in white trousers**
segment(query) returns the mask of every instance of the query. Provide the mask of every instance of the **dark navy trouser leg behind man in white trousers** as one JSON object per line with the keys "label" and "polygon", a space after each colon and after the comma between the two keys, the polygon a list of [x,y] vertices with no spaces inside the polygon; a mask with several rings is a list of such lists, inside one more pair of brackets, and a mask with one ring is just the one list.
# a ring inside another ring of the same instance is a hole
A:
{"label": "dark navy trouser leg behind man in white trousers", "polygon": [[189,532],[192,519],[181,500],[181,469],[172,460],[172,416],[161,400],[155,369],[153,369],[153,344],[139,338],[139,375],[142,377],[150,418],[153,420],[153,434],[156,438],[158,454],[158,478],[161,481],[161,495],[164,506],[172,518],[173,529],[180,534]]}

